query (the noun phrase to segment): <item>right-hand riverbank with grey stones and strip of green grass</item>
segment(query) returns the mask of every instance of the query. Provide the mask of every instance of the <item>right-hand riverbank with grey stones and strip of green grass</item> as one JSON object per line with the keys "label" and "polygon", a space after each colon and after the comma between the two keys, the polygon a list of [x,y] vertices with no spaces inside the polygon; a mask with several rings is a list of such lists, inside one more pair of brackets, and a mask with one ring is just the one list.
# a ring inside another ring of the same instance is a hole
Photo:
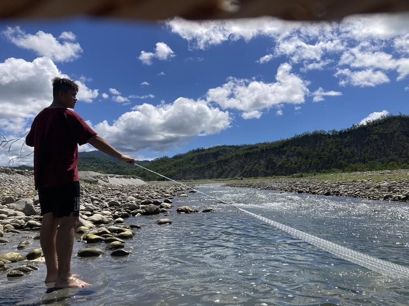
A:
{"label": "right-hand riverbank with grey stones and strip of green grass", "polygon": [[279,190],[294,193],[349,196],[372,200],[409,200],[409,170],[383,170],[307,177],[274,177],[225,181],[230,187]]}

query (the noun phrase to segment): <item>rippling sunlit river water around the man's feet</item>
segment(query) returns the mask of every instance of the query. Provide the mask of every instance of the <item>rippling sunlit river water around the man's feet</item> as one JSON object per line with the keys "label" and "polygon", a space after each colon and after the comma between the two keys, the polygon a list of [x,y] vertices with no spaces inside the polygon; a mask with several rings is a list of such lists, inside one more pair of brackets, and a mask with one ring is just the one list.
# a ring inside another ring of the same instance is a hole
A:
{"label": "rippling sunlit river water around the man's feet", "polygon": [[[409,205],[205,185],[198,190],[317,237],[409,266]],[[46,293],[45,266],[0,277],[1,305],[408,305],[409,278],[393,279],[312,246],[199,193],[174,205],[214,213],[137,217],[146,224],[127,258],[81,259],[73,270],[93,284]],[[24,240],[24,239],[20,239]],[[32,245],[33,246],[33,245]],[[30,246],[30,247],[32,247]],[[104,248],[104,244],[96,244]],[[3,247],[3,246],[0,246]],[[15,246],[13,250],[16,251]],[[1,251],[4,251],[1,249]]]}

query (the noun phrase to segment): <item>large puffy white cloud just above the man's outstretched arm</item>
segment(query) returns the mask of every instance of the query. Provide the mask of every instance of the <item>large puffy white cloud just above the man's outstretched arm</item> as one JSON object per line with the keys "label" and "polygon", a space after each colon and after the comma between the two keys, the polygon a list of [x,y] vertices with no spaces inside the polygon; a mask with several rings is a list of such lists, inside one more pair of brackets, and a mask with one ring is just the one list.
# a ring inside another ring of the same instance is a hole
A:
{"label": "large puffy white cloud just above the man's outstretched arm", "polygon": [[181,97],[172,104],[136,106],[112,125],[103,121],[94,128],[123,151],[164,151],[195,136],[220,133],[231,126],[231,121],[229,112],[211,107],[204,100]]}

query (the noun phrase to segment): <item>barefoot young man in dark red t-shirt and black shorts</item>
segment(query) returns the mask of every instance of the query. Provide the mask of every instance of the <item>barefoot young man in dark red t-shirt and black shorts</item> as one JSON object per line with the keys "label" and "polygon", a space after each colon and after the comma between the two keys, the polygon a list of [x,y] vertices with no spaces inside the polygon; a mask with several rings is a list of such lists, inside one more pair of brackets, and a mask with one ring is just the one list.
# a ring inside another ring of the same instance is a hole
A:
{"label": "barefoot young man in dark red t-shirt and black shorts", "polygon": [[134,163],[97,135],[73,109],[78,85],[54,78],[53,103],[34,119],[26,143],[34,146],[34,183],[42,224],[40,244],[46,259],[46,285],[82,288],[89,284],[71,273],[74,231],[79,219],[78,145],[90,143],[120,161]]}

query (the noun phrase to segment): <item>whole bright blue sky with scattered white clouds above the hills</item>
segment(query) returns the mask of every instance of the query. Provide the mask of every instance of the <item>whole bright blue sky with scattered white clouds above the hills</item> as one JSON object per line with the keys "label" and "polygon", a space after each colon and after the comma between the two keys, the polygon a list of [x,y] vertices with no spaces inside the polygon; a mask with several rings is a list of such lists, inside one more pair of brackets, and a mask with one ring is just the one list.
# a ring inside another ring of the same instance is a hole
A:
{"label": "whole bright blue sky with scattered white clouds above the hills", "polygon": [[[51,104],[55,76],[76,80],[75,111],[140,160],[408,114],[408,17],[2,20],[0,133],[29,130]],[[31,151],[3,146],[0,165]]]}

